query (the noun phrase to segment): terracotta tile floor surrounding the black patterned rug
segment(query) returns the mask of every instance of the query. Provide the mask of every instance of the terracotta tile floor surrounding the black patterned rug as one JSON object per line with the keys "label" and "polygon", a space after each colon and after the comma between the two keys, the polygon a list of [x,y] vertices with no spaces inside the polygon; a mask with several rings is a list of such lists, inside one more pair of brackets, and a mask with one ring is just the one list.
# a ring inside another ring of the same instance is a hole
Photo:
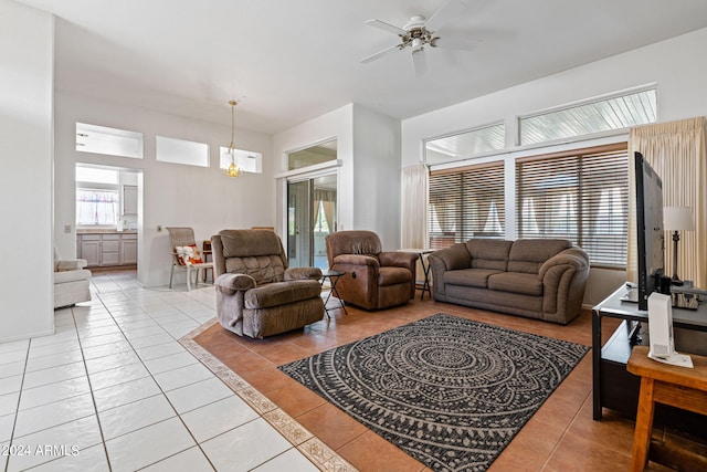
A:
{"label": "terracotta tile floor surrounding the black patterned rug", "polygon": [[[277,366],[440,312],[591,345],[589,312],[568,326],[559,326],[429,300],[421,302],[419,297],[402,307],[380,312],[349,306],[349,314],[344,315],[336,310],[331,319],[262,340],[241,338],[213,325],[197,335],[194,342],[358,470],[429,471],[422,463],[282,374]],[[603,334],[608,338],[618,321],[604,318],[603,323]],[[629,470],[634,424],[606,409],[601,422],[592,420],[591,374],[591,354],[587,354],[496,459],[489,472]],[[654,430],[654,437],[666,442],[682,443],[684,440],[659,428]],[[704,444],[690,442],[690,445],[707,454]],[[646,470],[667,469],[650,462]]]}

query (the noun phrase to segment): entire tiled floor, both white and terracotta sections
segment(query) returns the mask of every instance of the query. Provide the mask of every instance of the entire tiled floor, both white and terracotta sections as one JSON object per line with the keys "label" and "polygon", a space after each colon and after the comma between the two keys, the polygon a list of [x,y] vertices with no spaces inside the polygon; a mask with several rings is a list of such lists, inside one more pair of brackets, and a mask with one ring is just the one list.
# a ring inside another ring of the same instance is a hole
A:
{"label": "entire tiled floor, both white and terracotta sections", "polygon": [[[422,471],[275,367],[439,312],[588,345],[591,336],[588,314],[562,327],[416,298],[252,340],[207,323],[209,286],[145,290],[134,273],[105,273],[92,290],[91,303],[55,312],[55,335],[0,344],[0,470],[315,471],[314,457],[323,469]],[[178,342],[188,333],[198,334],[191,352]],[[588,355],[492,471],[625,470],[633,424],[592,421],[590,396]],[[303,453],[293,443],[307,434]]]}

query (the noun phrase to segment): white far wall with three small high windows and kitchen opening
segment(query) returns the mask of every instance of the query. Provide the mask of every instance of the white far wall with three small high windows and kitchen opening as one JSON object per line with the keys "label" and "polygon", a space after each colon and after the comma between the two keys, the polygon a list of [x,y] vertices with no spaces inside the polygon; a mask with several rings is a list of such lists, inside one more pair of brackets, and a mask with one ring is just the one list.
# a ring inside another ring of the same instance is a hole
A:
{"label": "white far wall with three small high windows and kitchen opening", "polygon": [[[229,108],[224,105],[224,116]],[[126,106],[94,97],[56,92],[55,129],[55,235],[65,255],[75,253],[76,162],[99,164],[141,170],[141,206],[138,219],[138,280],[145,286],[169,282],[171,260],[169,235],[161,225],[194,229],[197,242],[210,239],[222,229],[275,224],[275,186],[271,159],[271,137],[236,128],[238,148],[263,154],[263,174],[244,172],[228,178],[219,169],[219,147],[228,146],[229,125],[199,122],[146,108]],[[145,134],[144,159],[103,156],[75,150],[76,122]],[[209,168],[157,162],[155,136],[207,143]],[[63,232],[71,224],[71,233]],[[177,283],[183,283],[179,273]]]}

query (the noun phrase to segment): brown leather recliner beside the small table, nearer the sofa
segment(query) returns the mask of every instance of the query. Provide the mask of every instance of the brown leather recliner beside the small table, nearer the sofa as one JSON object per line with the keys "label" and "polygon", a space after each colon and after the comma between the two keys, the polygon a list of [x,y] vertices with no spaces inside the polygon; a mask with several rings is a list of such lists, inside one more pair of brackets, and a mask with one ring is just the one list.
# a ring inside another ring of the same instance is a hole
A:
{"label": "brown leather recliner beside the small table, nearer the sofa", "polygon": [[329,268],[345,272],[336,287],[346,303],[380,310],[415,295],[418,254],[383,252],[372,231],[338,231],[325,241]]}

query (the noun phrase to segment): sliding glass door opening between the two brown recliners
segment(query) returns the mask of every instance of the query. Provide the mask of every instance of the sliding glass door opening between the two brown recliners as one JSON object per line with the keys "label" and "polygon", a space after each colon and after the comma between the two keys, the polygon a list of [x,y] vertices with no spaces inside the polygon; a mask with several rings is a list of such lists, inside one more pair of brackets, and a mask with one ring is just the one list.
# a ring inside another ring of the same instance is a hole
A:
{"label": "sliding glass door opening between the two brown recliners", "polygon": [[327,234],[336,231],[337,175],[287,181],[287,258],[289,265],[328,269]]}

